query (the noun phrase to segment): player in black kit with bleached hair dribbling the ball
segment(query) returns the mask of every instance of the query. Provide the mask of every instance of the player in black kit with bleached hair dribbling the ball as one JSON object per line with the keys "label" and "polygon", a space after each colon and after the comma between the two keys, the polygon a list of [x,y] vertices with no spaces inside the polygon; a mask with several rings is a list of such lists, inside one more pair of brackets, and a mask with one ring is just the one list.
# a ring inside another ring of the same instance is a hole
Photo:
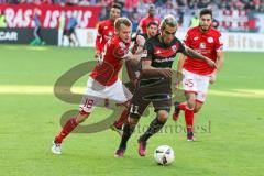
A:
{"label": "player in black kit with bleached hair dribbling the ball", "polygon": [[155,108],[156,118],[138,141],[141,156],[146,154],[147,140],[165,124],[172,106],[172,65],[177,53],[193,56],[194,59],[204,59],[210,66],[215,66],[211,59],[189,47],[185,47],[176,38],[176,19],[172,15],[166,16],[161,24],[161,34],[150,38],[144,46],[141,58],[141,75],[131,100],[130,117],[123,127],[123,135],[119,148],[116,151],[116,157],[123,156],[128,140],[133,133],[140,117],[151,102]]}

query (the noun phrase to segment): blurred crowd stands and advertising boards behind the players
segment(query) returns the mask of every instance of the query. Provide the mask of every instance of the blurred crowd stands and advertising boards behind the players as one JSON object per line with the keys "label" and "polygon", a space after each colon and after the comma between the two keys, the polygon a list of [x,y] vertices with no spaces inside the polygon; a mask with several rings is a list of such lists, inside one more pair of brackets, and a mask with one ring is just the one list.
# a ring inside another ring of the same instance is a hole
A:
{"label": "blurred crowd stands and advertising boards behind the players", "polygon": [[[69,46],[63,29],[73,20],[74,46],[94,47],[97,24],[109,18],[113,3],[122,6],[133,32],[152,4],[156,18],[173,14],[179,23],[179,38],[194,25],[199,9],[210,8],[215,28],[223,33],[226,51],[264,51],[264,0],[0,0],[0,43]],[[41,38],[34,41],[37,26]]]}

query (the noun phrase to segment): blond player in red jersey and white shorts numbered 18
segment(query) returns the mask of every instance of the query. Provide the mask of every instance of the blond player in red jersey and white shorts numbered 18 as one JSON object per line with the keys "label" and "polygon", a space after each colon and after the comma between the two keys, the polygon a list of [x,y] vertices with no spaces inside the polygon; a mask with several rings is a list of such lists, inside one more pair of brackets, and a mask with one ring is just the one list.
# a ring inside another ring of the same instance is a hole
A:
{"label": "blond player in red jersey and white shorts numbered 18", "polygon": [[61,154],[63,140],[82,121],[85,121],[95,106],[106,98],[128,106],[131,92],[122,85],[118,75],[122,68],[123,61],[130,57],[129,46],[131,41],[131,21],[127,18],[119,18],[114,22],[113,37],[108,41],[102,52],[102,59],[98,62],[87,81],[86,94],[79,108],[79,113],[69,119],[62,131],[55,136],[52,146],[54,154]]}

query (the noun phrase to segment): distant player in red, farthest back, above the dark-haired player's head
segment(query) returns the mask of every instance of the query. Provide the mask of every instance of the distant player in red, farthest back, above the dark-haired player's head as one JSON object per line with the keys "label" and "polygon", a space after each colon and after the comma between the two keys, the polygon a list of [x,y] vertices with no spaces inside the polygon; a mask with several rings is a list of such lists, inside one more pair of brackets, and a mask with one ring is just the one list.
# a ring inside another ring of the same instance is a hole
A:
{"label": "distant player in red, farthest back, above the dark-haired player's head", "polygon": [[156,13],[155,7],[151,6],[150,9],[148,9],[148,15],[143,18],[140,21],[140,24],[139,24],[139,30],[142,33],[146,33],[147,24],[150,22],[155,22],[155,23],[157,23],[160,25],[161,20],[158,18],[155,18],[155,13]]}

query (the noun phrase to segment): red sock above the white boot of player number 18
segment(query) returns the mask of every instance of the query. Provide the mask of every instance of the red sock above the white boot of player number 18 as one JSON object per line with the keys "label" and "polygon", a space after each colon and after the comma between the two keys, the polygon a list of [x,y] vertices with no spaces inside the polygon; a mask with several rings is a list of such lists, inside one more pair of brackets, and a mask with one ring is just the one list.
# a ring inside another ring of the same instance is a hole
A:
{"label": "red sock above the white boot of player number 18", "polygon": [[56,143],[62,143],[63,140],[78,125],[76,118],[70,118],[63,127],[62,131],[55,138]]}

